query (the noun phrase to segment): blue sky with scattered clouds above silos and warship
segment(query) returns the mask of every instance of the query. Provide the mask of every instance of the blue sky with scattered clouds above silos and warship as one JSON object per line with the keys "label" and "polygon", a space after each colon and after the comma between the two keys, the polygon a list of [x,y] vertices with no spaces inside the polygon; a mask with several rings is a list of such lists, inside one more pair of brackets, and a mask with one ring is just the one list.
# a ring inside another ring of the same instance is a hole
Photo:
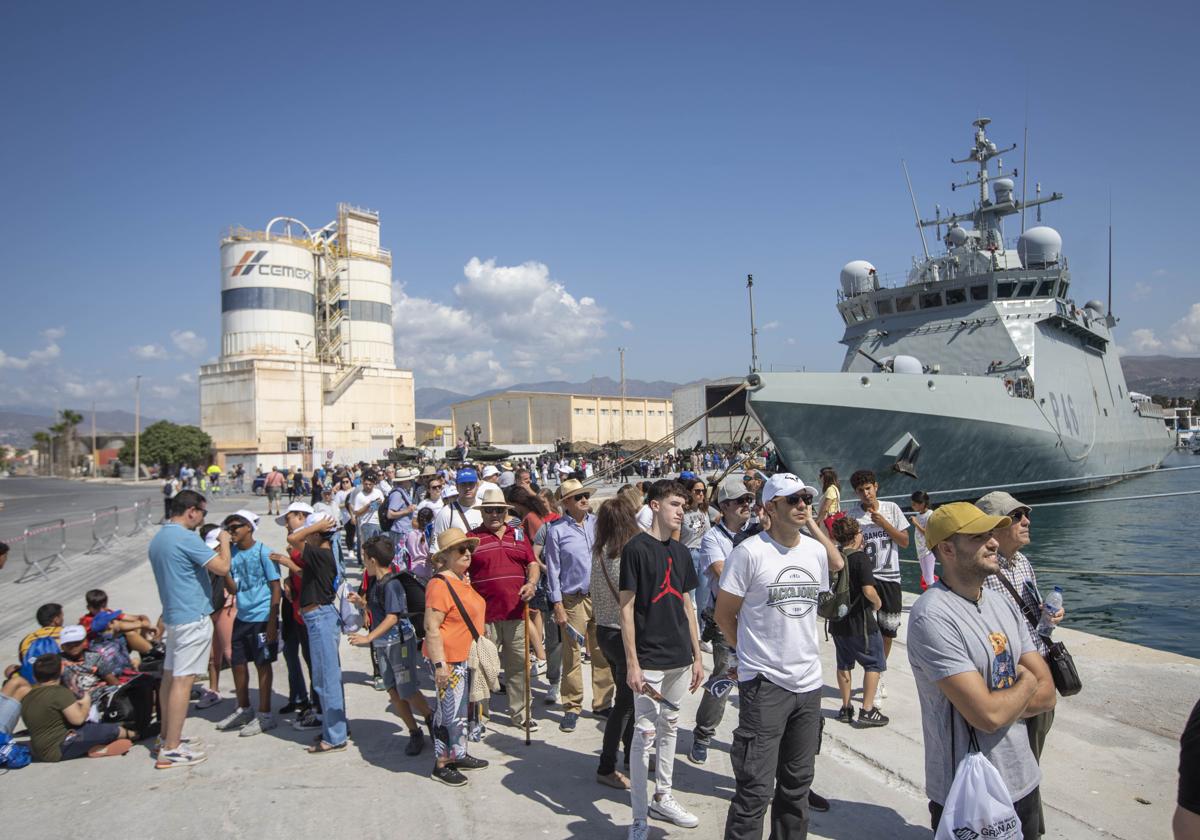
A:
{"label": "blue sky with scattered clouds above silos and warship", "polygon": [[[835,370],[838,271],[907,270],[971,120],[1020,142],[1073,292],[1200,354],[1194,5],[22,4],[6,16],[0,404],[193,419],[218,240],[378,209],[397,355],[474,391]],[[1188,104],[1188,103],[1192,104]],[[1021,166],[1020,151],[1006,157]],[[1009,230],[1014,234],[1016,229]],[[497,295],[508,289],[509,294]]]}

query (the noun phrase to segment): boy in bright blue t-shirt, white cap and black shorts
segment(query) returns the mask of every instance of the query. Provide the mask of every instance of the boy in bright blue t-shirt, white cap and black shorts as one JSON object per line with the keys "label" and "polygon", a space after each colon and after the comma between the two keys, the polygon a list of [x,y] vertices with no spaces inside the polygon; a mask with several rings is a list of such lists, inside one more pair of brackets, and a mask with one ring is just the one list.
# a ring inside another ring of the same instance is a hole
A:
{"label": "boy in bright blue t-shirt, white cap and black shorts", "polygon": [[[238,598],[230,659],[238,708],[217,724],[217,728],[222,732],[239,730],[242,738],[278,726],[278,721],[271,714],[271,664],[277,656],[277,622],[282,590],[280,570],[271,559],[271,550],[254,540],[257,520],[258,517],[250,511],[238,511],[227,516],[221,523],[233,540],[229,574],[224,578],[224,586]],[[258,671],[258,714],[250,708],[251,661]]]}

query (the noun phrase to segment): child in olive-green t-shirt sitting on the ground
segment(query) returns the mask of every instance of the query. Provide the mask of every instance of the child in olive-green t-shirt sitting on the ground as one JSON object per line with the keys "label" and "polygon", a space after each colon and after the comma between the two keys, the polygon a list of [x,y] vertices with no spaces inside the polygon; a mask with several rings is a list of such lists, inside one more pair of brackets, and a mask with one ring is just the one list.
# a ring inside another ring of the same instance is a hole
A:
{"label": "child in olive-green t-shirt sitting on the ground", "polygon": [[[101,758],[125,755],[138,733],[116,724],[89,724],[91,697],[79,700],[62,685],[62,658],[48,653],[34,660],[36,684],[20,701],[29,727],[30,751],[37,761]],[[76,727],[76,728],[72,728]]]}

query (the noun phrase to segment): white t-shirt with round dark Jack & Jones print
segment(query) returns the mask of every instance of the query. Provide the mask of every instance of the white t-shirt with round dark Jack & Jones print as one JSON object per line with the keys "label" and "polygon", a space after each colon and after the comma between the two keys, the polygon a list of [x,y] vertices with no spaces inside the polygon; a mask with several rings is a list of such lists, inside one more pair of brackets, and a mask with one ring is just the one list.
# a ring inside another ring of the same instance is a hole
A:
{"label": "white t-shirt with round dark Jack & Jones print", "polygon": [[829,589],[829,558],[811,536],[788,548],[767,532],[733,547],[721,589],[742,598],[738,679],[763,677],[788,691],[821,688],[817,594]]}

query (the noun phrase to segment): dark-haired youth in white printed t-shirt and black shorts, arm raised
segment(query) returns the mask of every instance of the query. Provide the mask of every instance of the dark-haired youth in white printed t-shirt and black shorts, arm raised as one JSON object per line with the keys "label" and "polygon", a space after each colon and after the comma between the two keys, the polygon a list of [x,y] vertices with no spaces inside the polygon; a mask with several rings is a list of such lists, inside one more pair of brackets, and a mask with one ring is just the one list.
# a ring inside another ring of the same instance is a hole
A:
{"label": "dark-haired youth in white printed t-shirt and black shorts, arm raised", "polygon": [[[858,502],[846,508],[846,516],[858,521],[863,532],[863,551],[875,560],[875,590],[883,601],[878,612],[880,635],[883,636],[883,659],[892,655],[892,641],[900,631],[904,596],[900,592],[900,550],[908,546],[908,521],[895,502],[881,502],[880,484],[875,473],[858,469],[850,476]],[[876,706],[887,697],[883,680]]]}

